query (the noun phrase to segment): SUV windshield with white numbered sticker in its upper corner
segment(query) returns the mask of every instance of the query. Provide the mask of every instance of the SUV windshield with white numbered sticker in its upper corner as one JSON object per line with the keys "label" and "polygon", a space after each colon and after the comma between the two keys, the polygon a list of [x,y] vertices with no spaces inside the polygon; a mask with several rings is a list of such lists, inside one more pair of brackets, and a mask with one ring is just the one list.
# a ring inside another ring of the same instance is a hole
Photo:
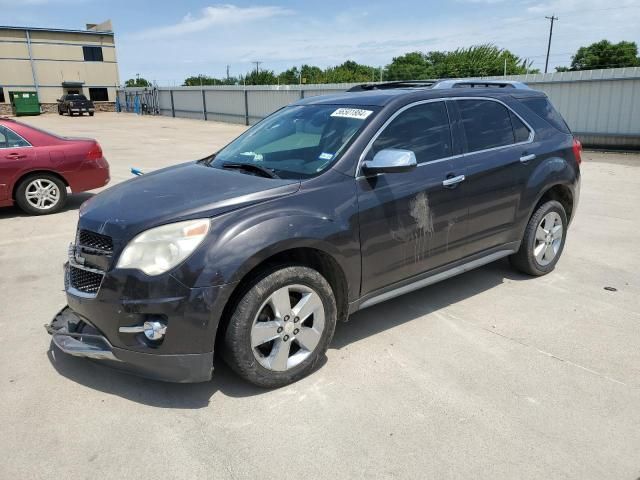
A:
{"label": "SUV windshield with white numbered sticker in its upper corner", "polygon": [[220,150],[210,165],[249,164],[279,178],[310,178],[340,157],[373,112],[372,107],[285,107]]}

